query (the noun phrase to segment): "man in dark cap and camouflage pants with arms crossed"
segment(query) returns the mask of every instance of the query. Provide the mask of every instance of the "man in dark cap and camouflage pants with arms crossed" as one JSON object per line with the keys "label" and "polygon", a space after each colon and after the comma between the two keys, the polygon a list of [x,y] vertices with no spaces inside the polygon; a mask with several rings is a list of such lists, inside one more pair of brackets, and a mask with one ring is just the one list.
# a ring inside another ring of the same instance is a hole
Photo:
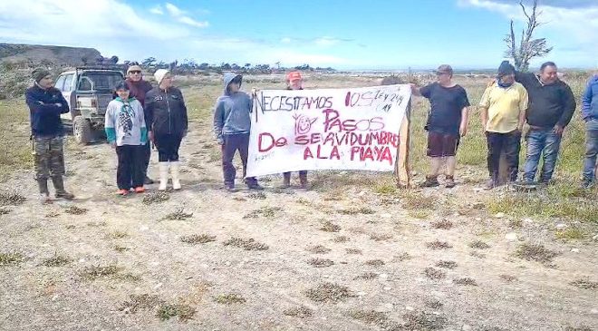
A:
{"label": "man in dark cap and camouflage pants with arms crossed", "polygon": [[55,197],[72,200],[74,195],[64,190],[64,129],[60,114],[69,112],[63,93],[53,87],[52,75],[43,68],[32,73],[34,86],[27,89],[31,134],[34,141],[34,168],[41,199],[49,200],[48,177],[52,178]]}

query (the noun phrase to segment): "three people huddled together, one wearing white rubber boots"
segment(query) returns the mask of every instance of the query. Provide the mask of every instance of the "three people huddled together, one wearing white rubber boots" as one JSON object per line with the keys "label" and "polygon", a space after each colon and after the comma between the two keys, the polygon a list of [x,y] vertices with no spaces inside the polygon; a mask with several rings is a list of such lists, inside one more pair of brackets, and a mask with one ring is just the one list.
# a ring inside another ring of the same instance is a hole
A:
{"label": "three people huddled together, one wearing white rubber boots", "polygon": [[145,191],[153,180],[147,176],[150,144],[158,150],[159,188],[180,190],[178,148],[187,135],[187,106],[183,94],[172,85],[168,70],[154,73],[158,85],[151,88],[141,77],[139,65],[132,65],[127,79],[115,88],[118,95],[108,104],[104,128],[108,142],[118,156],[118,194]]}

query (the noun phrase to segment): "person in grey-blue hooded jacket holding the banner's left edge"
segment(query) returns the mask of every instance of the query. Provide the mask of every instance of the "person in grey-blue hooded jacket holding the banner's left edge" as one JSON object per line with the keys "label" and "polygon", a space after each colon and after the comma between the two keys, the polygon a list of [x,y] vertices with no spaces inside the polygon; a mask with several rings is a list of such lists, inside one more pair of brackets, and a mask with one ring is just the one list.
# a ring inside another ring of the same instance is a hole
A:
{"label": "person in grey-blue hooded jacket holding the banner's left edge", "polygon": [[249,131],[251,130],[251,97],[240,91],[243,76],[224,73],[224,94],[214,107],[214,133],[222,145],[222,172],[227,190],[235,190],[236,170],[233,159],[239,151],[243,162],[243,178],[250,190],[262,190],[255,177],[246,178],[249,153]]}

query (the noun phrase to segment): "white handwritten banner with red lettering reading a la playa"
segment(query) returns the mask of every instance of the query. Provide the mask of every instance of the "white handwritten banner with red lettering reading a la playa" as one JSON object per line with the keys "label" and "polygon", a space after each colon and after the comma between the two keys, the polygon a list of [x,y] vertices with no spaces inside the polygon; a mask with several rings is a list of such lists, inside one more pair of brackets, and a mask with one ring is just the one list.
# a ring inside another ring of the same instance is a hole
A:
{"label": "white handwritten banner with red lettering reading a la playa", "polygon": [[410,96],[409,85],[257,92],[247,176],[392,171]]}

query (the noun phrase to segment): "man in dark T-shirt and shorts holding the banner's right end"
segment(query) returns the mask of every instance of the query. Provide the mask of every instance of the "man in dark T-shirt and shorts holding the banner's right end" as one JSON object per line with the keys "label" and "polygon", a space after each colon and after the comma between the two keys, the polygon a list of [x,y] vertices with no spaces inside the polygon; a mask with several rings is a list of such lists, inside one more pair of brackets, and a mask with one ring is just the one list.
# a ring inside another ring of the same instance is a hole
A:
{"label": "man in dark T-shirt and shorts holding the banner's right end", "polygon": [[411,84],[414,95],[421,95],[430,102],[428,122],[429,175],[423,187],[439,186],[439,170],[446,164],[445,185],[455,187],[455,166],[459,137],[468,132],[468,94],[465,89],[452,82],[453,69],[442,64],[436,71],[438,81],[422,88]]}

